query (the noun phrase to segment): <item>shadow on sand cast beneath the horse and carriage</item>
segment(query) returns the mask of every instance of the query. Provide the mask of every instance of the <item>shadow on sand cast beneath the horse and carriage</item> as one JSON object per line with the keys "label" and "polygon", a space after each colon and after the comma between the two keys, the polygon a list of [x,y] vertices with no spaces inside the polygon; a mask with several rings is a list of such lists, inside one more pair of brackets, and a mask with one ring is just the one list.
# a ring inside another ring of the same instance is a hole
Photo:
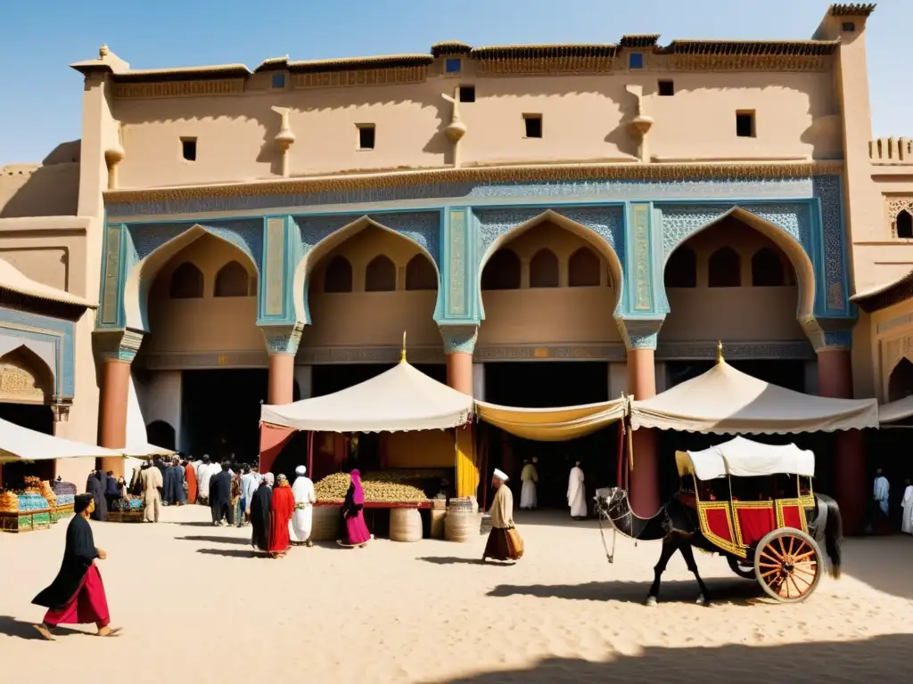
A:
{"label": "shadow on sand cast beneath the horse and carriage", "polygon": [[[757,582],[743,579],[705,579],[712,604],[752,606],[773,603],[764,598]],[[569,601],[619,601],[642,604],[651,582],[588,582],[582,585],[499,585],[487,596],[536,596],[564,598]],[[666,580],[659,589],[660,603],[694,603],[698,599],[698,584],[692,580]]]}

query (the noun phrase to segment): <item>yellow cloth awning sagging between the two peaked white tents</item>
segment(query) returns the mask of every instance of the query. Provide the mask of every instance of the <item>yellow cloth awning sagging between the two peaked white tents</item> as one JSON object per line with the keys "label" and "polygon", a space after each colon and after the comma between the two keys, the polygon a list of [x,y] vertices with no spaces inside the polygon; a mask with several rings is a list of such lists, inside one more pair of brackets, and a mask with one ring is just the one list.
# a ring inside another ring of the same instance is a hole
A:
{"label": "yellow cloth awning sagging between the two peaked white tents", "polygon": [[479,420],[517,437],[536,441],[576,440],[624,418],[626,409],[626,399],[556,409],[522,409],[476,402]]}

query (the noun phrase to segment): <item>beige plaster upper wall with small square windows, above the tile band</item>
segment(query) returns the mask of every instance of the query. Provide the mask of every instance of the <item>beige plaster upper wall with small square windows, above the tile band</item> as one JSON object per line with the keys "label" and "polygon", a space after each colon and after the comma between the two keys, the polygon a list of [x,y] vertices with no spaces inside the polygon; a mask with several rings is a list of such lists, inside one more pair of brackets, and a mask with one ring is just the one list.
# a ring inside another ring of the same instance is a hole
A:
{"label": "beige plaster upper wall with small square windows, above the tile band", "polygon": [[[659,78],[676,93],[659,97]],[[252,79],[253,80],[253,79]],[[655,119],[650,150],[662,160],[828,159],[840,156],[839,109],[833,79],[813,73],[694,73],[649,70],[595,76],[461,78],[346,88],[263,90],[236,96],[120,98],[126,158],[119,187],[144,188],[278,177],[274,138],[289,107],[296,136],[292,176],[341,171],[442,167],[452,163],[444,129],[451,105],[441,96],[473,85],[476,101],[460,103],[467,125],[464,165],[555,161],[630,161],[637,153],[629,127],[641,85],[643,111]],[[757,136],[738,138],[737,110],[756,112]],[[524,114],[542,117],[540,139],[527,139]],[[358,124],[373,124],[373,150],[359,150]],[[181,138],[196,138],[197,159],[185,161]]]}

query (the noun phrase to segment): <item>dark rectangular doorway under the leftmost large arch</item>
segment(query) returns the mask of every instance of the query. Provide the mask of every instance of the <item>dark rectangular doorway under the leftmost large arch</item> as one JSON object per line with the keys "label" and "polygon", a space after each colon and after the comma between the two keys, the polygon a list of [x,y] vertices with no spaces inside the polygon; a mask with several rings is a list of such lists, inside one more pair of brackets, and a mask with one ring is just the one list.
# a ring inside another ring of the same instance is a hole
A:
{"label": "dark rectangular doorway under the leftmost large arch", "polygon": [[255,463],[260,451],[260,405],[267,400],[268,371],[185,370],[182,422],[187,451],[200,458]]}

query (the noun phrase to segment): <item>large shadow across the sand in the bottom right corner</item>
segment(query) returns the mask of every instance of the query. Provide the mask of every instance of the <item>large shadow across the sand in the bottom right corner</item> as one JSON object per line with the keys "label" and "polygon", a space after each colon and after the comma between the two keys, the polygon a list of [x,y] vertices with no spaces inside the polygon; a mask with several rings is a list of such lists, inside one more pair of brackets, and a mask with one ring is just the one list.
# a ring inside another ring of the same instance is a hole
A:
{"label": "large shadow across the sand in the bottom right corner", "polygon": [[[658,627],[657,627],[658,628]],[[826,626],[823,626],[826,630]],[[698,635],[699,638],[699,635]],[[699,681],[701,684],[818,684],[907,681],[913,635],[789,646],[643,648],[609,662],[547,658],[529,669],[505,669],[435,684],[609,684]],[[432,684],[432,680],[425,680]]]}

